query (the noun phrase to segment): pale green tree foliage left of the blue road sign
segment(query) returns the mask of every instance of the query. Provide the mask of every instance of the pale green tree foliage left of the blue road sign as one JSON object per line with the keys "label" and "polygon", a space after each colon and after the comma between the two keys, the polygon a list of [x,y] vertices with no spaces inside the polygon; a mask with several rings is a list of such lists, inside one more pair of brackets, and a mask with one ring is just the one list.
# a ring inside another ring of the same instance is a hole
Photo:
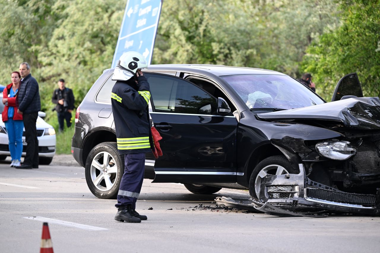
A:
{"label": "pale green tree foliage left of the blue road sign", "polygon": [[0,83],[28,62],[49,113],[59,78],[74,91],[76,106],[111,66],[125,1],[0,0]]}

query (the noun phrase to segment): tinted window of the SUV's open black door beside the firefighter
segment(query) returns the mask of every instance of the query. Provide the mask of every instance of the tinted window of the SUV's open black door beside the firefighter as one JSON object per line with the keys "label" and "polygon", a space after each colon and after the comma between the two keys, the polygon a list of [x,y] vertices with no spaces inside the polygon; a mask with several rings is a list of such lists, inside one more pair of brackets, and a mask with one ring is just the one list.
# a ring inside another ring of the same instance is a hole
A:
{"label": "tinted window of the SUV's open black door beside the firefighter", "polygon": [[178,77],[145,74],[156,112],[215,114],[216,99]]}

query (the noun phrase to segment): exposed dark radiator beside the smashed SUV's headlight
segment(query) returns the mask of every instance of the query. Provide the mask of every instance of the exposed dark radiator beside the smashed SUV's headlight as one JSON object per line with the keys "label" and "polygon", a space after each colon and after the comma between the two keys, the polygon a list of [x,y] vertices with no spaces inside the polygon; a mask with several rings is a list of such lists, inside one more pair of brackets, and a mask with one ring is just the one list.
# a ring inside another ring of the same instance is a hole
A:
{"label": "exposed dark radiator beside the smashed SUV's headlight", "polygon": [[358,173],[380,173],[380,143],[363,142],[357,149],[353,161]]}

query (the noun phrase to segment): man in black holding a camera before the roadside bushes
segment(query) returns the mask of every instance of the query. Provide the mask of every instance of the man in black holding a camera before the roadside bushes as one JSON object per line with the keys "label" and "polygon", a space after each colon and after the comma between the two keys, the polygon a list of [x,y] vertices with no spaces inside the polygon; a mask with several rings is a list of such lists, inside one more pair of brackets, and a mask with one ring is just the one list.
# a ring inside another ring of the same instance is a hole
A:
{"label": "man in black holding a camera before the roadside bushes", "polygon": [[53,111],[57,111],[59,131],[63,131],[63,125],[71,126],[71,112],[74,109],[73,90],[65,87],[65,80],[62,78],[58,81],[58,89],[54,90],[51,101],[57,104]]}

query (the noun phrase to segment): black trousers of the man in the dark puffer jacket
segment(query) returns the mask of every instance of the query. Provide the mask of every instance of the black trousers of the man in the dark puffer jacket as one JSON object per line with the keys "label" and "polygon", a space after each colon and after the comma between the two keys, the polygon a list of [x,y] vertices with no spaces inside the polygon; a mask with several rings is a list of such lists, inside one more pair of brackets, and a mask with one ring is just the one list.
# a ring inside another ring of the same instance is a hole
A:
{"label": "black trousers of the man in the dark puffer jacket", "polygon": [[36,129],[37,117],[38,112],[22,114],[25,127],[25,141],[27,142],[26,155],[23,164],[33,167],[38,167],[38,139]]}

